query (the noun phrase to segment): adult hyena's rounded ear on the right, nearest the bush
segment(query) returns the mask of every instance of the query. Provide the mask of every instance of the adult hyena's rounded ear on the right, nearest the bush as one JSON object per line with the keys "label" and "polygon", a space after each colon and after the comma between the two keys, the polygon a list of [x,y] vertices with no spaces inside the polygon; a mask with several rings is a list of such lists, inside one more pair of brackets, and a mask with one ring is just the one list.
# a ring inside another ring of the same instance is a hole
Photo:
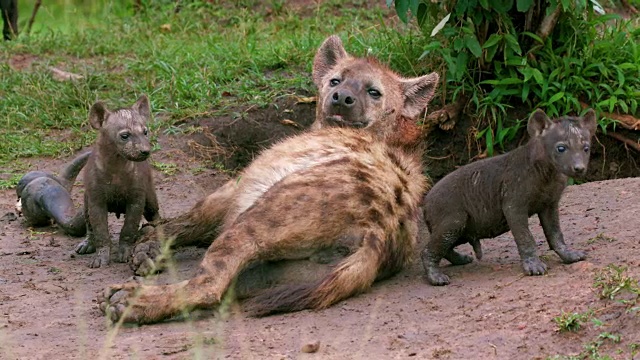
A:
{"label": "adult hyena's rounded ear on the right, nearest the bush", "polygon": [[417,78],[402,79],[403,115],[410,119],[417,118],[433,98],[439,80],[440,76],[435,72]]}

